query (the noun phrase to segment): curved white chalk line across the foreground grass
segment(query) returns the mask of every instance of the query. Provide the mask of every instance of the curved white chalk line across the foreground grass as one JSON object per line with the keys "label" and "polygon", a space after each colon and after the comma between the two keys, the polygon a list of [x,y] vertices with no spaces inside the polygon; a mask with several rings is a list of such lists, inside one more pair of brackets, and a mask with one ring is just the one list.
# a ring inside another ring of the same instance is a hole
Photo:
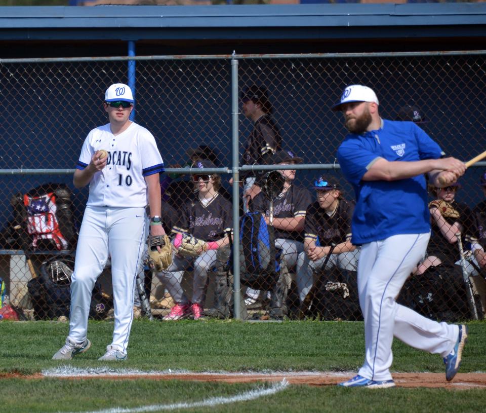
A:
{"label": "curved white chalk line across the foreground grass", "polygon": [[[171,403],[171,404],[152,404],[149,406],[140,406],[134,408],[125,407],[112,407],[102,410],[92,410],[83,413],[144,413],[150,411],[160,411],[160,410],[176,410],[182,408],[193,408],[193,407],[214,407],[221,404],[236,403],[239,401],[249,401],[254,400],[262,396],[270,396],[272,394],[278,393],[285,390],[289,386],[287,380],[282,380],[280,383],[275,383],[269,388],[260,387],[255,390],[250,390],[247,392],[235,394],[234,396],[227,397],[210,397],[206,400],[195,401],[192,403]],[[74,413],[74,412],[70,412]],[[75,412],[79,413],[79,412]]]}

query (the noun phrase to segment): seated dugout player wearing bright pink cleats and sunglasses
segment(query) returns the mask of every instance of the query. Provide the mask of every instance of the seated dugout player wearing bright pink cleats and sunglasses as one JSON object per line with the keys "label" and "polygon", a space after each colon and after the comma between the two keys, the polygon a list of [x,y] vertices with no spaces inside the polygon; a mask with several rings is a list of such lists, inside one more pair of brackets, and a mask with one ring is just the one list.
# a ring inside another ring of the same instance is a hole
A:
{"label": "seated dugout player wearing bright pink cleats and sunglasses", "polygon": [[[172,265],[157,276],[165,283],[176,305],[166,320],[178,320],[192,313],[195,320],[201,317],[206,293],[208,271],[211,269],[219,247],[229,243],[228,233],[232,229],[232,209],[228,200],[219,195],[221,178],[217,174],[205,174],[204,168],[215,168],[208,160],[195,163],[192,181],[197,194],[182,207],[179,222],[174,227],[174,256]],[[177,254],[184,234],[206,241],[204,250],[195,257]],[[181,281],[184,270],[194,267],[192,284],[192,303],[184,294]]]}

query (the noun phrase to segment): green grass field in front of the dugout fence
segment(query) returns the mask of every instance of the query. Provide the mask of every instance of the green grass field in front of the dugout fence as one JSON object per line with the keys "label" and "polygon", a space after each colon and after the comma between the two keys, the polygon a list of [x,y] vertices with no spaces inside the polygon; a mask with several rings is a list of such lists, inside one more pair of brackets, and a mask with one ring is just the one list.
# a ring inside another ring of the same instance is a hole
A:
{"label": "green grass field in front of the dugout fence", "polygon": [[[471,322],[461,372],[485,371],[486,323]],[[484,411],[484,389],[446,390],[394,388],[342,389],[337,386],[289,385],[275,394],[216,406],[174,409],[178,403],[196,403],[234,397],[271,383],[137,380],[65,380],[6,377],[33,374],[59,366],[106,366],[97,358],[110,343],[112,322],[90,322],[91,349],[72,361],[51,360],[63,345],[67,323],[0,323],[0,406],[2,412],[211,411],[213,412],[468,412]],[[361,322],[238,321],[149,322],[136,320],[129,359],[112,368],[190,371],[355,371],[363,357]],[[443,372],[441,358],[395,341],[396,372]],[[444,379],[445,380],[445,379]],[[169,406],[173,405],[173,406]],[[146,406],[152,406],[149,409]],[[155,406],[155,407],[153,407]],[[173,408],[174,407],[174,408]],[[179,405],[181,407],[181,405]],[[138,409],[138,410],[137,410]]]}

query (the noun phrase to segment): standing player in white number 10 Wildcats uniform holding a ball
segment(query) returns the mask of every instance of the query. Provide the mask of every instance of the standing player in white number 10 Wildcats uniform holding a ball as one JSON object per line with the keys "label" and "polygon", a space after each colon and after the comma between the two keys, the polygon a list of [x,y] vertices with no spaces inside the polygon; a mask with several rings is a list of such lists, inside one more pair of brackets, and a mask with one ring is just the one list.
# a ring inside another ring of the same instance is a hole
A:
{"label": "standing player in white number 10 Wildcats uniform holding a ball", "polygon": [[135,278],[148,233],[147,203],[150,234],[164,234],[159,185],[164,163],[152,134],[129,120],[133,105],[129,86],[117,83],[106,90],[103,106],[109,123],[88,134],[76,164],[74,186],[89,183],[90,193],[72,274],[69,335],[55,360],[69,360],[90,348],[91,293],[108,257],[115,321],[113,341],[99,360],[127,358]]}

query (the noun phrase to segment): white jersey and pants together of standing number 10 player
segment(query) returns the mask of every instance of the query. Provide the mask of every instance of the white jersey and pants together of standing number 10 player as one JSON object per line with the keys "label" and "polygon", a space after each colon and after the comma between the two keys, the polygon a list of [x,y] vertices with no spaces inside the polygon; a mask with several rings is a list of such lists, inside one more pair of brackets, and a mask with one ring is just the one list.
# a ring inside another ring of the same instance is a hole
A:
{"label": "white jersey and pants together of standing number 10 player", "polygon": [[111,256],[115,303],[113,341],[109,346],[126,354],[133,320],[135,277],[147,239],[147,185],[144,177],[164,171],[155,139],[132,123],[114,136],[110,125],[87,136],[77,169],[85,169],[98,149],[108,152],[106,166],[90,182],[71,277],[69,339],[84,342],[88,332],[91,290]]}

